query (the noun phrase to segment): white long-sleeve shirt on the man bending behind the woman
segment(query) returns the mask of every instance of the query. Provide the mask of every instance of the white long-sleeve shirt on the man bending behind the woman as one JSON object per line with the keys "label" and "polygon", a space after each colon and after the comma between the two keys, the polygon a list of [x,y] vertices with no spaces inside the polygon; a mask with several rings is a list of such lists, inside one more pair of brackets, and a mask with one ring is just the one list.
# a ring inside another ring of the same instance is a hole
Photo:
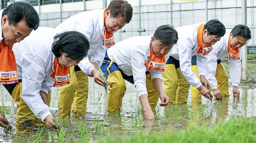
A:
{"label": "white long-sleeve shirt on the man bending behind the woman", "polygon": [[91,62],[96,62],[99,68],[105,57],[104,11],[105,9],[95,9],[78,13],[69,17],[55,28],[58,33],[77,31],[87,37],[91,44],[87,54],[90,56],[90,62],[87,57],[85,57],[78,64],[81,70],[87,75],[91,75],[91,71],[94,68]]}

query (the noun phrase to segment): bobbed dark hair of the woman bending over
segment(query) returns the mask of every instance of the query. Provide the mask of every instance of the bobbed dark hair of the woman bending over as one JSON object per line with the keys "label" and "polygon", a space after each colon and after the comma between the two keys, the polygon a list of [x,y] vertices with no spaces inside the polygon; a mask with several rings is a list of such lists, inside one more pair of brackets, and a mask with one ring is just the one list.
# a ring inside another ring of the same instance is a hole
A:
{"label": "bobbed dark hair of the woman bending over", "polygon": [[87,55],[89,47],[90,43],[82,33],[69,31],[55,35],[52,52],[56,57],[60,57],[61,49],[62,53],[67,54],[67,58],[80,61]]}

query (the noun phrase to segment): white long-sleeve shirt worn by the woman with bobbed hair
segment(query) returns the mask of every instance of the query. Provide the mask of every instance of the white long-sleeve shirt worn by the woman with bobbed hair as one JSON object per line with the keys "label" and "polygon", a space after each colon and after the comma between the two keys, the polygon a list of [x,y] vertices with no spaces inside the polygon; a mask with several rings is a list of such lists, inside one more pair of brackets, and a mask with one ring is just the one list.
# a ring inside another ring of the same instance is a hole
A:
{"label": "white long-sleeve shirt worn by the woman with bobbed hair", "polygon": [[51,75],[55,59],[52,42],[55,34],[53,28],[40,27],[12,48],[17,63],[18,79],[22,79],[20,97],[42,121],[51,115],[49,106],[44,104],[39,92],[48,93],[52,90]]}

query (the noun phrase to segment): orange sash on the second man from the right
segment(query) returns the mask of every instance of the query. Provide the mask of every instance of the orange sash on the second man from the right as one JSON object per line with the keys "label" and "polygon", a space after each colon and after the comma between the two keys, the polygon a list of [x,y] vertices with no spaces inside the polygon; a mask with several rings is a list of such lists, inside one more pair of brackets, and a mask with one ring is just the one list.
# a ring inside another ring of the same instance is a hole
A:
{"label": "orange sash on the second man from the right", "polygon": [[198,26],[198,54],[207,55],[212,50],[212,46],[206,47],[203,44],[203,31],[204,31],[204,25],[201,24]]}

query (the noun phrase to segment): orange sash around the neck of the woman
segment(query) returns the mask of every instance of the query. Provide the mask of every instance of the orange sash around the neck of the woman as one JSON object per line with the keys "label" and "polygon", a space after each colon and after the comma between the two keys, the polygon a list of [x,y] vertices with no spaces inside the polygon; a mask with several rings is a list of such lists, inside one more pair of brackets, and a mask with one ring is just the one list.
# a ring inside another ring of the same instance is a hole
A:
{"label": "orange sash around the neck of the woman", "polygon": [[54,79],[52,87],[61,87],[70,83],[70,68],[63,68],[58,63],[58,58],[55,57],[53,62],[55,71],[51,77]]}

